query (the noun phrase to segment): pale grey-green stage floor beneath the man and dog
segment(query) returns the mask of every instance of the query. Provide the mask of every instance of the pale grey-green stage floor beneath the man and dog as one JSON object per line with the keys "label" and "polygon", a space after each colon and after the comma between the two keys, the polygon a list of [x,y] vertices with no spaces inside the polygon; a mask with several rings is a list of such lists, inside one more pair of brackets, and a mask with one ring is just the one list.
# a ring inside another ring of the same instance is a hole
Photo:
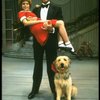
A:
{"label": "pale grey-green stage floor beneath the man and dog", "polygon": [[[53,100],[46,73],[46,61],[43,62],[43,79],[39,94],[34,100]],[[2,100],[28,100],[33,68],[33,59],[2,57]],[[70,71],[73,83],[78,87],[75,100],[99,100],[98,59],[72,59]]]}

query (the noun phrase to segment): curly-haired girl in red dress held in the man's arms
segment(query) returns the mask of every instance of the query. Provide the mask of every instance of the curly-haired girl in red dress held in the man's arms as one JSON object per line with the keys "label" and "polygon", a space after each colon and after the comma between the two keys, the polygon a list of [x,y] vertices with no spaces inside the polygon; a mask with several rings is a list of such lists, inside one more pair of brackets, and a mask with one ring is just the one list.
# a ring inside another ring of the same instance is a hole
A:
{"label": "curly-haired girl in red dress held in the man's arms", "polygon": [[70,48],[71,52],[74,52],[74,48],[69,41],[64,22],[62,20],[47,20],[43,21],[38,18],[33,12],[30,11],[31,0],[20,0],[19,4],[21,11],[18,12],[19,20],[24,24],[24,26],[30,26],[30,31],[40,43],[40,45],[45,45],[49,33],[46,30],[48,25],[57,27],[59,29],[59,34],[62,37],[63,41],[59,42],[59,47]]}

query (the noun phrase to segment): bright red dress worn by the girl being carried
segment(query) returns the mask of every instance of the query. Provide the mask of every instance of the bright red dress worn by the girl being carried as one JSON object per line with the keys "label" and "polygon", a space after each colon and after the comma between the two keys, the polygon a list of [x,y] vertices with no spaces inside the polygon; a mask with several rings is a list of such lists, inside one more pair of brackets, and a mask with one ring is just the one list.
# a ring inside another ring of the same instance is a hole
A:
{"label": "bright red dress worn by the girl being carried", "polygon": [[[33,12],[31,11],[20,11],[18,13],[18,18],[21,20],[22,18],[27,18],[27,17],[37,17]],[[37,18],[37,20],[40,20],[40,18]],[[56,24],[56,19],[51,20],[51,23],[53,26]],[[43,26],[43,23],[38,23],[38,24],[33,24],[30,25],[30,31],[36,38],[36,40],[40,43],[40,45],[44,45],[48,39],[49,33],[46,30],[43,30],[41,27]]]}

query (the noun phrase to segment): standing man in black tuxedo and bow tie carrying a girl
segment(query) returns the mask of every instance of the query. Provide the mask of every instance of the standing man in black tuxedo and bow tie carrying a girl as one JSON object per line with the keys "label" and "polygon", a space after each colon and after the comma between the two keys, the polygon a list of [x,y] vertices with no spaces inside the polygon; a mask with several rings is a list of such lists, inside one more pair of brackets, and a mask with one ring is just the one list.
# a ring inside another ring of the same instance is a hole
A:
{"label": "standing man in black tuxedo and bow tie carrying a girl", "polygon": [[[53,5],[50,0],[42,0],[40,7],[35,7],[33,12],[37,17],[42,20],[58,19],[63,20],[62,10],[60,7]],[[49,79],[49,85],[51,92],[54,95],[55,86],[54,86],[54,72],[51,70],[51,64],[57,57],[57,48],[58,48],[58,29],[49,27],[50,31],[49,38],[44,46],[41,46],[37,40],[33,39],[33,49],[34,49],[34,73],[33,73],[33,84],[32,91],[28,95],[28,99],[32,99],[39,92],[42,74],[43,74],[43,55],[45,52],[46,62],[47,62],[47,74]]]}

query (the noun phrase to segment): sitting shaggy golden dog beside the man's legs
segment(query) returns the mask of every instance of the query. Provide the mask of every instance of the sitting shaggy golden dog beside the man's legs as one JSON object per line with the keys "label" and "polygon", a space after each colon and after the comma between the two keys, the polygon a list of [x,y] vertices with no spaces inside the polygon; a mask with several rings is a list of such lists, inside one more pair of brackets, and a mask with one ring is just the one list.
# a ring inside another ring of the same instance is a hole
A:
{"label": "sitting shaggy golden dog beside the man's legs", "polygon": [[69,73],[70,63],[71,60],[68,56],[58,56],[52,64],[52,70],[55,71],[56,100],[60,100],[63,95],[66,100],[71,100],[77,95],[77,87],[72,84]]}

